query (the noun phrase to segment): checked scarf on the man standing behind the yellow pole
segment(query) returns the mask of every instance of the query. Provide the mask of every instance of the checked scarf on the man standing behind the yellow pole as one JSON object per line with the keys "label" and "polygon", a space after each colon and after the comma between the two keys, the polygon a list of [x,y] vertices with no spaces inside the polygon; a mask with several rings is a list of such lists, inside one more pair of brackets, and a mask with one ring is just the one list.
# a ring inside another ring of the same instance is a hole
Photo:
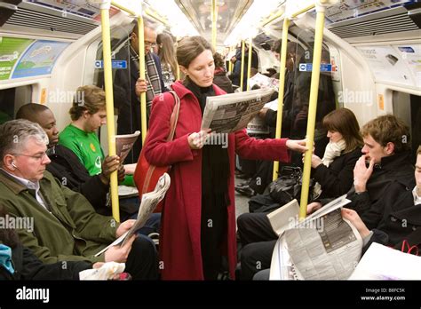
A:
{"label": "checked scarf on the man standing behind the yellow pole", "polygon": [[[133,63],[136,66],[139,75],[139,55],[130,46],[130,57]],[[152,106],[152,101],[154,100],[157,94],[163,93],[161,89],[161,80],[159,78],[158,69],[152,57],[152,53],[148,52],[145,55],[145,78],[147,80],[147,115],[150,114],[150,107]],[[149,116],[147,116],[149,118]]]}

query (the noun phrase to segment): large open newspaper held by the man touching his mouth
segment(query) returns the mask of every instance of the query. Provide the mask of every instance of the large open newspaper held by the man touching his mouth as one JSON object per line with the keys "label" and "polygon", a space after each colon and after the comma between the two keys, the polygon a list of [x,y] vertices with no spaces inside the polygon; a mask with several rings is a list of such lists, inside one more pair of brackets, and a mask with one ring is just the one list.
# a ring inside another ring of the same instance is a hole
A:
{"label": "large open newspaper held by the man touching his mouth", "polygon": [[362,239],[342,218],[346,195],[287,228],[276,242],[270,280],[346,280],[361,258]]}

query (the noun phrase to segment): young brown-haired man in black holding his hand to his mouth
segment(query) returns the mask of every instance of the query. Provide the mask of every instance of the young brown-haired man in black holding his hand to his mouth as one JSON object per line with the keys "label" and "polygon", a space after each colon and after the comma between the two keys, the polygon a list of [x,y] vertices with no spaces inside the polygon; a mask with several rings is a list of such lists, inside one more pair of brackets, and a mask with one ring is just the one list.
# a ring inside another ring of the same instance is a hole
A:
{"label": "young brown-haired man in black holding his hand to his mouth", "polygon": [[[414,167],[410,160],[409,129],[394,115],[381,115],[361,128],[364,147],[353,169],[353,187],[347,194],[347,208],[361,216],[389,190],[395,181],[412,186]],[[369,165],[368,165],[369,164]],[[329,199],[308,204],[307,213]]]}

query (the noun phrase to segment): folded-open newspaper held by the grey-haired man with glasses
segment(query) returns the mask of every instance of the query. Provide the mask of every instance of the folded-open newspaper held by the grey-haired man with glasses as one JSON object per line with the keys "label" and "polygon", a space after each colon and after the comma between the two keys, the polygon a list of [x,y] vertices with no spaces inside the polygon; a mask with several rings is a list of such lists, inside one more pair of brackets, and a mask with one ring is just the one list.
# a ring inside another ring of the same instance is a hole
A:
{"label": "folded-open newspaper held by the grey-haired man with glasses", "polygon": [[136,218],[136,222],[131,229],[117,238],[113,243],[111,243],[107,248],[100,250],[95,257],[98,257],[100,254],[108,250],[108,248],[112,246],[116,246],[117,244],[122,243],[122,246],[131,238],[133,234],[135,234],[140,227],[145,225],[147,222],[147,218],[150,217],[152,212],[155,210],[156,205],[158,202],[163,201],[163,197],[165,196],[168,188],[171,184],[170,175],[164,173],[156,183],[155,190],[152,192],[148,192],[147,194],[142,194],[142,201],[140,202],[138,218]]}

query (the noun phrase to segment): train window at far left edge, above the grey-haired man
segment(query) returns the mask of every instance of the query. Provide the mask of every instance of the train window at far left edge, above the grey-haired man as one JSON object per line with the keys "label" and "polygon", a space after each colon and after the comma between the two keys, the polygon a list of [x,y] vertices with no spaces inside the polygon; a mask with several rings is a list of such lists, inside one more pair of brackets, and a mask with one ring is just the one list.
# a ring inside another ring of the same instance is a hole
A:
{"label": "train window at far left edge, above the grey-haired man", "polygon": [[18,109],[31,102],[32,87],[30,85],[0,90],[0,123],[14,119]]}

